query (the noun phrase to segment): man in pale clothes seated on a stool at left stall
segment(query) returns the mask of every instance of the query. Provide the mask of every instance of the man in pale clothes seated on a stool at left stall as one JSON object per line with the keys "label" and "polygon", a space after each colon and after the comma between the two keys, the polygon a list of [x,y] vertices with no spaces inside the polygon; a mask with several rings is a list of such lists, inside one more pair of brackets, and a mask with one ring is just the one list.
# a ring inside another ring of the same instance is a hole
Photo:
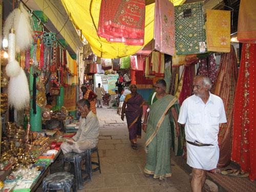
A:
{"label": "man in pale clothes seated on a stool at left stall", "polygon": [[77,108],[81,116],[79,129],[74,137],[67,139],[60,145],[63,154],[69,152],[82,153],[94,148],[98,143],[99,120],[90,110],[90,101],[81,99],[77,102]]}

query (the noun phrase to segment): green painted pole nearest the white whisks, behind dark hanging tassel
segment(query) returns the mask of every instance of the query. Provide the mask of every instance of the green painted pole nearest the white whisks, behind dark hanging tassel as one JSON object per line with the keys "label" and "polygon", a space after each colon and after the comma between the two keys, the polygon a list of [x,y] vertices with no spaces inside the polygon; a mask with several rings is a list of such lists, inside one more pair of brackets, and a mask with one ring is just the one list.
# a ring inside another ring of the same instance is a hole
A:
{"label": "green painted pole nearest the white whisks, behind dark hanging tassel", "polygon": [[31,131],[37,131],[40,132],[42,131],[42,116],[41,116],[41,108],[36,105],[36,114],[33,114],[33,109],[32,109],[32,95],[33,95],[33,74],[32,74],[32,67],[30,67],[30,73],[29,73],[29,90],[30,90],[30,112],[29,112],[29,122],[31,126]]}

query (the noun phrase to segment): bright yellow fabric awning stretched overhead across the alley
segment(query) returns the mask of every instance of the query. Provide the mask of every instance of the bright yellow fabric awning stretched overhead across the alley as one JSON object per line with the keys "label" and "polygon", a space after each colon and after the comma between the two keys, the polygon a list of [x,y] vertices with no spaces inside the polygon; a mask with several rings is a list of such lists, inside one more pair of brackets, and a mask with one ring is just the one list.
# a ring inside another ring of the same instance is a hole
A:
{"label": "bright yellow fabric awning stretched overhead across the alley", "polygon": [[[121,42],[109,42],[97,35],[99,11],[101,0],[61,0],[72,22],[82,30],[82,34],[88,40],[92,51],[99,57],[118,58],[132,55],[143,46],[127,46]],[[178,1],[183,3],[183,0]],[[175,3],[176,5],[176,3]],[[155,3],[147,5],[145,11],[144,45],[154,37]]]}

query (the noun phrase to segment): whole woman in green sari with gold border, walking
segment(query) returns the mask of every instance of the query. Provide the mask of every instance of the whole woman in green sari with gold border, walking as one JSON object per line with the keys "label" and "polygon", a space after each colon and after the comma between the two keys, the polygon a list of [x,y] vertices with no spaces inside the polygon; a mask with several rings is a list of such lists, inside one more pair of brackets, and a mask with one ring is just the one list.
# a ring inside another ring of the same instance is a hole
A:
{"label": "whole woman in green sari with gold border, walking", "polygon": [[[146,177],[166,179],[172,176],[170,169],[171,123],[175,126],[176,136],[180,134],[178,125],[177,98],[165,93],[166,82],[159,79],[155,84],[156,92],[148,100],[149,110],[144,118],[143,130],[146,132]],[[170,110],[170,113],[168,111]],[[149,115],[148,115],[149,112]],[[147,118],[148,117],[148,118]]]}

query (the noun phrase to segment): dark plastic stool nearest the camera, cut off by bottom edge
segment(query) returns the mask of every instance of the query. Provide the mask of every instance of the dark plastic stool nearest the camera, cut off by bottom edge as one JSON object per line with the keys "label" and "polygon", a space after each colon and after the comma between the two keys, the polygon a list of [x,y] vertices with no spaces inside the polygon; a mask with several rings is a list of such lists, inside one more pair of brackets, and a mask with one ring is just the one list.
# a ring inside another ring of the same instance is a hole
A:
{"label": "dark plastic stool nearest the camera, cut off by bottom edge", "polygon": [[68,172],[57,172],[48,175],[42,180],[42,189],[44,192],[47,190],[60,190],[64,192],[76,192],[76,181],[73,174]]}

